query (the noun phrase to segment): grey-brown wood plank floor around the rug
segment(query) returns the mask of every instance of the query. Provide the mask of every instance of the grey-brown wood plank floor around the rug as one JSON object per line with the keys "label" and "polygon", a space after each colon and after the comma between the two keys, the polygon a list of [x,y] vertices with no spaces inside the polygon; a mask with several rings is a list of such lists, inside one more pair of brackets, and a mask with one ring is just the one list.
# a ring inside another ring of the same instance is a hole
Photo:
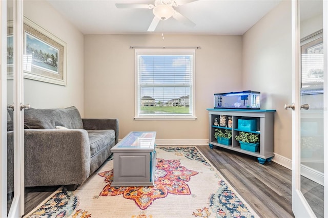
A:
{"label": "grey-brown wood plank floor around the rug", "polygon": [[[266,162],[262,165],[255,157],[216,146],[213,149],[209,146],[197,147],[260,217],[294,217],[291,170],[274,162]],[[302,180],[311,183],[306,178]],[[30,212],[57,188],[57,186],[26,188],[25,213]],[[320,194],[314,197],[314,191],[318,191],[316,189],[320,189],[322,198]],[[309,198],[313,199],[316,208],[319,208],[317,216],[321,217],[323,187],[312,185],[311,190],[306,192]]]}

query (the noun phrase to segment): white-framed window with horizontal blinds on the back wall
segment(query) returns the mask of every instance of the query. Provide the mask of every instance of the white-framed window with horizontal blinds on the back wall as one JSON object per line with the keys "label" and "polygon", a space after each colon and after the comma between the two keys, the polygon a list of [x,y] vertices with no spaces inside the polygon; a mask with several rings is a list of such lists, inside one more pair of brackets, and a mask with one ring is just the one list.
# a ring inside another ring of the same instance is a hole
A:
{"label": "white-framed window with horizontal blinds on the back wall", "polygon": [[195,119],[195,50],[135,50],[135,119]]}

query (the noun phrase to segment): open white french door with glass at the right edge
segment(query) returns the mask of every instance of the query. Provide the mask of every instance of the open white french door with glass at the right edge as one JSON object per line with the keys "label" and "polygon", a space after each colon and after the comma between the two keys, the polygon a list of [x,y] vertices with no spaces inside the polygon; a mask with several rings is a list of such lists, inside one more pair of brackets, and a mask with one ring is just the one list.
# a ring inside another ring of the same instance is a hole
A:
{"label": "open white french door with glass at the right edge", "polygon": [[328,217],[328,1],[291,3],[292,209],[295,217]]}

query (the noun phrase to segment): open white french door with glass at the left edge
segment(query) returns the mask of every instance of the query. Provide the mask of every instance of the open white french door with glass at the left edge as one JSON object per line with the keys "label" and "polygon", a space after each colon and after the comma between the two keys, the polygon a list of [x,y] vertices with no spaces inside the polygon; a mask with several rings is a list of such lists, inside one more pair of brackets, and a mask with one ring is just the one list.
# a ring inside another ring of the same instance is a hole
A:
{"label": "open white french door with glass at the left edge", "polygon": [[[0,217],[24,214],[23,0],[0,1]],[[12,116],[7,112],[10,108]],[[8,129],[11,122],[13,129]],[[8,141],[7,141],[8,139]],[[13,142],[13,143],[10,143]],[[7,178],[7,179],[6,179]]]}

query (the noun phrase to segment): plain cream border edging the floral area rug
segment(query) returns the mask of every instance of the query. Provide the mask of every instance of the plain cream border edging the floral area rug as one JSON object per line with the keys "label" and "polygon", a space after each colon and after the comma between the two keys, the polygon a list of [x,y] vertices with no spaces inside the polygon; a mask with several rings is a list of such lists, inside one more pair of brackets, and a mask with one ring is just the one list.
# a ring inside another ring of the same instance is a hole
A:
{"label": "plain cream border edging the floral area rug", "polygon": [[[218,175],[220,176],[220,178],[224,181],[224,183],[227,184],[227,186],[235,193],[235,195],[239,198],[240,201],[242,201],[242,203],[247,207],[247,209],[254,215],[255,218],[260,218],[260,216],[254,211],[254,209],[249,205],[249,203],[247,201],[245,201],[245,199],[243,199],[241,197],[241,195],[236,191],[236,189],[227,181],[226,178],[224,178],[221,174],[221,172],[219,170],[216,169],[216,167],[214,167],[214,165],[212,164],[211,161],[209,161],[209,159],[207,159],[207,157],[204,156],[204,154],[194,145],[157,145],[157,147],[195,147],[197,149],[197,151],[201,154],[201,156],[211,165],[211,167],[218,173]],[[169,151],[168,151],[169,152]],[[102,167],[102,166],[100,166]],[[98,171],[98,170],[96,170]],[[90,178],[90,177],[89,177]],[[57,192],[59,192],[61,190],[61,188],[63,188],[64,186],[59,187],[56,191],[54,191],[48,198],[46,198],[43,202],[41,202],[39,205],[37,205],[33,210],[31,210],[28,214],[24,215],[23,218],[25,217],[29,217],[32,213],[34,213],[37,208],[41,207],[42,205],[44,205],[49,199],[51,199],[53,197],[54,194],[56,194]]]}

